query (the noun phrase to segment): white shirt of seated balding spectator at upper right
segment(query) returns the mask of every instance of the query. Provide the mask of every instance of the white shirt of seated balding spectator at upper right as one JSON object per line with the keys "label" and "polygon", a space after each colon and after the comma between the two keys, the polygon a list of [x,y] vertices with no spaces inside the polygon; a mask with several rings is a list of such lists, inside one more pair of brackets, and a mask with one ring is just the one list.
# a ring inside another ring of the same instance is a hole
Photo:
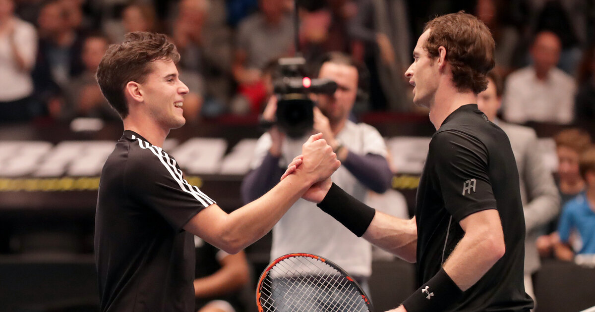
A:
{"label": "white shirt of seated balding spectator at upper right", "polygon": [[546,80],[537,79],[533,67],[512,73],[506,80],[504,119],[516,124],[527,121],[569,124],[574,117],[574,79],[553,68]]}

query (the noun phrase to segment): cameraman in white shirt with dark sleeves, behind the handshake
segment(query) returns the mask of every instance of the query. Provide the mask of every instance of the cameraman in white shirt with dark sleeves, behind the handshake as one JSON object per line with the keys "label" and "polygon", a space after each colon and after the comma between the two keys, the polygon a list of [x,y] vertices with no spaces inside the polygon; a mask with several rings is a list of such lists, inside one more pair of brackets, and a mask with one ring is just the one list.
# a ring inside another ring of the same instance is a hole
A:
{"label": "cameraman in white shirt with dark sleeves, behind the handshake", "polygon": [[[358,93],[358,68],[349,56],[339,52],[328,53],[321,64],[318,78],[337,83],[334,94],[313,95],[316,102],[313,132],[323,134],[342,163],[331,178],[358,200],[365,200],[368,190],[384,193],[392,178],[384,139],[370,125],[355,124],[348,119]],[[276,108],[273,96],[263,118],[273,121]],[[256,144],[252,171],[242,183],[243,200],[251,201],[274,187],[287,164],[300,154],[300,146],[307,137],[290,138],[276,126],[263,134]],[[328,257],[367,287],[371,275],[371,245],[315,204],[301,199],[274,226],[271,259],[295,252]]]}

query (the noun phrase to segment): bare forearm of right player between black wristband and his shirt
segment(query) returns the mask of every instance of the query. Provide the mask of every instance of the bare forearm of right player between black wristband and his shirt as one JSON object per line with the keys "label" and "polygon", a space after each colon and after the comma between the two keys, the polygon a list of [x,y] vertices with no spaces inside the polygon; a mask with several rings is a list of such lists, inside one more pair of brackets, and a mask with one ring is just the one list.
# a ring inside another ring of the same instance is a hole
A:
{"label": "bare forearm of right player between black wristband and his shirt", "polygon": [[415,217],[405,220],[376,212],[363,237],[405,261],[411,263],[416,261],[417,223],[415,223]]}

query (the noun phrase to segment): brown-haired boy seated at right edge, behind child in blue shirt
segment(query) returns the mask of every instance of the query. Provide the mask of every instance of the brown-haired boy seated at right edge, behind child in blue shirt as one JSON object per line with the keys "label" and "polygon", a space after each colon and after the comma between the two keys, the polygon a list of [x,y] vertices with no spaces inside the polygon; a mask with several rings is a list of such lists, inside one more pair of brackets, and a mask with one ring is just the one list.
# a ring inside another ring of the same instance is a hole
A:
{"label": "brown-haired boy seated at right edge, behind child in blue shirt", "polygon": [[[583,194],[585,182],[581,177],[578,160],[581,153],[591,145],[591,136],[587,131],[571,128],[560,131],[554,137],[556,154],[558,155],[558,193],[560,206],[563,207],[572,198]],[[550,222],[545,228],[545,235],[537,238],[537,250],[541,257],[550,257],[555,242],[559,240],[558,218]]]}

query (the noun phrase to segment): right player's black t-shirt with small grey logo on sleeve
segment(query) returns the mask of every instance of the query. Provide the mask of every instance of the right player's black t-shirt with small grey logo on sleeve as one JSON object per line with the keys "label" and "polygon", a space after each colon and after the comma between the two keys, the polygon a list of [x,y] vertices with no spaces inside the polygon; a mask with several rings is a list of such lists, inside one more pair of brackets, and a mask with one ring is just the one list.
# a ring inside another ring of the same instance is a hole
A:
{"label": "right player's black t-shirt with small grey logo on sleeve", "polygon": [[459,222],[497,209],[506,253],[446,311],[528,311],[523,264],[525,219],[515,157],[508,137],[477,105],[450,114],[433,135],[419,181],[417,284],[440,270],[465,232]]}

